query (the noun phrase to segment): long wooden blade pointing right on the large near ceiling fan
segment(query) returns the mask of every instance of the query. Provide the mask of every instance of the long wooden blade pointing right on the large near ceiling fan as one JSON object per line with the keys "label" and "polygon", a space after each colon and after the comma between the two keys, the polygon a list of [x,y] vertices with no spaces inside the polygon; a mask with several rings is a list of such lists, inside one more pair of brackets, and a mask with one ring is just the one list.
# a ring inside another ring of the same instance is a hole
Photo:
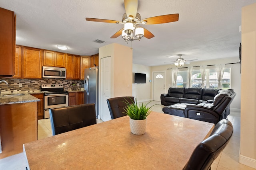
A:
{"label": "long wooden blade pointing right on the large near ceiling fan", "polygon": [[179,20],[179,14],[168,14],[163,16],[146,18],[146,19],[143,19],[142,21],[147,21],[146,24],[158,24],[158,23],[175,22],[178,20]]}

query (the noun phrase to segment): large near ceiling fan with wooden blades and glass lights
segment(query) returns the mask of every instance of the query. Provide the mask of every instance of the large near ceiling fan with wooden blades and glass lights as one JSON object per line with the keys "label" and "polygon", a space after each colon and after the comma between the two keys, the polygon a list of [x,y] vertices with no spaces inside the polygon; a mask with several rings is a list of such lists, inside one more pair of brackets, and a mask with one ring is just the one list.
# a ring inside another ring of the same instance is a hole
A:
{"label": "large near ceiling fan with wooden blades and glass lights", "polygon": [[[122,21],[105,20],[105,19],[98,19],[98,18],[85,18],[85,19],[86,21],[124,24],[124,28],[114,33],[114,35],[112,35],[112,37],[110,38],[117,38],[120,35],[122,35],[122,38],[124,38],[126,42],[133,41],[133,40],[140,40],[140,38],[142,37],[146,37],[148,39],[154,37],[154,35],[150,31],[148,31],[143,27],[140,27],[139,26],[140,24],[149,25],[149,24],[169,23],[169,22],[174,22],[179,20],[179,14],[155,16],[155,17],[145,18],[141,20],[140,14],[137,13],[138,0],[124,0],[124,8],[126,13],[122,16]],[[132,36],[132,33],[134,32],[133,29],[135,29],[135,37],[137,38],[134,38]]]}

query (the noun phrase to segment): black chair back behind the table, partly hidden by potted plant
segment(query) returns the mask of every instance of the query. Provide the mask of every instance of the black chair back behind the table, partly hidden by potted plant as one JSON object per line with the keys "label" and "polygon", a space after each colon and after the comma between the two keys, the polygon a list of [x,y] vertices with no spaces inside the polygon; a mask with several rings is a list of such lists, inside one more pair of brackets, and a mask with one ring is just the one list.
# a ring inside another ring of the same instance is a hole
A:
{"label": "black chair back behind the table, partly hidden by potted plant", "polygon": [[108,108],[110,111],[111,119],[116,119],[118,117],[125,116],[126,114],[123,113],[125,110],[124,108],[127,106],[126,103],[134,103],[134,97],[132,96],[125,96],[125,97],[116,97],[107,99]]}

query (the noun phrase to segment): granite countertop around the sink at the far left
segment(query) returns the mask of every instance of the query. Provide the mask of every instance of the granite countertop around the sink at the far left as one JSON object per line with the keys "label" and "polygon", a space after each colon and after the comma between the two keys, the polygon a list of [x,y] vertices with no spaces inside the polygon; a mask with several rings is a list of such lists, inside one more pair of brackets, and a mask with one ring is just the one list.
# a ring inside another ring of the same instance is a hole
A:
{"label": "granite countertop around the sink at the far left", "polygon": [[[15,94],[15,93],[12,93]],[[16,93],[18,94],[18,93]],[[19,93],[20,94],[20,93]],[[0,105],[4,104],[17,104],[17,103],[28,103],[28,102],[40,102],[40,100],[28,93],[24,93],[22,96],[0,96]]]}

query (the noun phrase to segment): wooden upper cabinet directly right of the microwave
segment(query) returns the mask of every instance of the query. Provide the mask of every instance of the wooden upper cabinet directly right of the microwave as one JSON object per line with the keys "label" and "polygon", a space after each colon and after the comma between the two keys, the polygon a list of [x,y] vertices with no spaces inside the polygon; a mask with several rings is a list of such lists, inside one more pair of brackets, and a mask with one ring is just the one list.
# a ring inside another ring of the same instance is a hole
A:
{"label": "wooden upper cabinet directly right of the microwave", "polygon": [[66,79],[80,79],[80,56],[66,54]]}

